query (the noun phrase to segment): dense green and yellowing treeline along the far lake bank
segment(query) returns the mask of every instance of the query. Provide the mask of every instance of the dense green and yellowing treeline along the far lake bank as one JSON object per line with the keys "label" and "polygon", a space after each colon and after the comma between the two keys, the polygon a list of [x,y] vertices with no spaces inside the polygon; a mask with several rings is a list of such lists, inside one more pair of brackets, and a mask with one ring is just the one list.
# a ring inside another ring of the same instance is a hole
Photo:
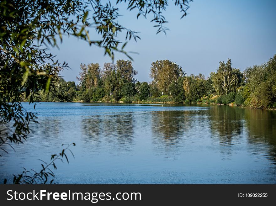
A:
{"label": "dense green and yellowing treeline along the far lake bank", "polygon": [[[152,62],[151,83],[135,79],[132,61],[80,65],[79,84],[55,82],[56,92],[72,101],[82,102],[178,102],[246,105],[253,108],[276,107],[276,55],[262,65],[247,67],[244,72],[232,68],[231,60],[220,62],[209,77],[187,75],[175,62]],[[60,101],[55,92],[40,91],[41,101]]]}

